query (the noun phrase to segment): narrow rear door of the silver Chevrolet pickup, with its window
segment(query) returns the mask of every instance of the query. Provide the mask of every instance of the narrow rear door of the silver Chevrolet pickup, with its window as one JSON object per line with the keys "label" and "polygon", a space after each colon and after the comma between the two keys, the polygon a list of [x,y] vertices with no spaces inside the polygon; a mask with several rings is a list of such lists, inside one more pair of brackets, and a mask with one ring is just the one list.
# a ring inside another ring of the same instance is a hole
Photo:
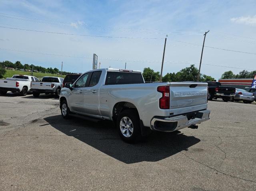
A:
{"label": "narrow rear door of the silver Chevrolet pickup, with its window", "polygon": [[99,80],[102,71],[92,72],[89,86],[84,90],[84,112],[91,115],[100,115],[99,107]]}

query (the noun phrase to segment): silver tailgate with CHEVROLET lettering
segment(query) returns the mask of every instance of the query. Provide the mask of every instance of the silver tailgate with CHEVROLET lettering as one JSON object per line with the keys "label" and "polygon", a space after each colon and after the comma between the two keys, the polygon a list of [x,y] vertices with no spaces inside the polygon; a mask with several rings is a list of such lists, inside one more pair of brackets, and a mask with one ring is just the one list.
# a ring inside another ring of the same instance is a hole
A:
{"label": "silver tailgate with CHEVROLET lettering", "polygon": [[185,113],[207,108],[207,86],[195,82],[170,83],[170,110],[182,109],[179,113]]}

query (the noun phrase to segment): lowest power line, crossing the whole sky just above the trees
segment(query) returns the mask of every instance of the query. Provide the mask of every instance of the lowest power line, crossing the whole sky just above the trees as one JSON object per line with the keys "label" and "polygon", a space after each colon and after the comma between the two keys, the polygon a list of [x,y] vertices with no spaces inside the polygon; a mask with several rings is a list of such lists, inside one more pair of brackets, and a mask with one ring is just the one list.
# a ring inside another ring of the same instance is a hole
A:
{"label": "lowest power line, crossing the whole sky just above the trees", "polygon": [[[51,56],[61,56],[61,57],[73,57],[73,58],[84,58],[84,59],[93,59],[92,57],[85,57],[85,56],[74,56],[74,55],[61,55],[61,54],[50,54],[50,53],[42,53],[42,52],[32,52],[32,51],[23,51],[23,50],[16,50],[16,49],[6,49],[6,48],[0,48],[0,50],[6,50],[6,51],[16,51],[16,52],[24,52],[24,53],[31,53],[31,54],[41,54],[41,55],[51,55]],[[111,61],[126,61],[126,62],[143,62],[143,63],[161,63],[160,61],[148,61],[148,60],[124,60],[124,59],[113,59],[113,58],[100,58],[101,60],[111,60]],[[175,62],[175,61],[165,61],[166,63],[172,63],[172,64],[189,64],[189,65],[195,65],[199,64],[197,61],[188,61],[188,62]],[[238,67],[230,67],[230,66],[223,66],[223,65],[214,65],[214,64],[205,64],[203,65],[209,65],[209,66],[218,66],[218,67],[225,67],[225,68],[234,68],[234,69],[244,69],[244,70],[256,70],[256,69],[247,69],[247,68],[238,68]]]}

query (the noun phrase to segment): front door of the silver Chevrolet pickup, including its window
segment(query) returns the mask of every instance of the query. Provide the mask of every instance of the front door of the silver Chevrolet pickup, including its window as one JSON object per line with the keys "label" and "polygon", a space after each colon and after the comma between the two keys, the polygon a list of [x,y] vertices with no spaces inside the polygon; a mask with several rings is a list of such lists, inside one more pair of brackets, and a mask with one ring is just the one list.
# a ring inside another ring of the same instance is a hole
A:
{"label": "front door of the silver Chevrolet pickup, including its window", "polygon": [[90,75],[90,72],[85,73],[73,84],[73,88],[69,95],[69,105],[70,109],[74,112],[85,112],[84,89],[89,85]]}

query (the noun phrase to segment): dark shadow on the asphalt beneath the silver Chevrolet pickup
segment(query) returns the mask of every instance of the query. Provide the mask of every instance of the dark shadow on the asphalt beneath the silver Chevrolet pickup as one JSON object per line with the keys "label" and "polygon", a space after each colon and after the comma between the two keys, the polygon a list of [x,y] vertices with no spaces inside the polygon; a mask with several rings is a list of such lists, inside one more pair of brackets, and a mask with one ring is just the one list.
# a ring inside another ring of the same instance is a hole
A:
{"label": "dark shadow on the asphalt beneath the silver Chevrolet pickup", "polygon": [[110,121],[91,122],[80,118],[66,120],[61,115],[46,117],[44,120],[60,132],[128,164],[159,161],[200,142],[200,139],[186,136],[178,131],[154,132],[146,141],[127,144],[121,140]]}

